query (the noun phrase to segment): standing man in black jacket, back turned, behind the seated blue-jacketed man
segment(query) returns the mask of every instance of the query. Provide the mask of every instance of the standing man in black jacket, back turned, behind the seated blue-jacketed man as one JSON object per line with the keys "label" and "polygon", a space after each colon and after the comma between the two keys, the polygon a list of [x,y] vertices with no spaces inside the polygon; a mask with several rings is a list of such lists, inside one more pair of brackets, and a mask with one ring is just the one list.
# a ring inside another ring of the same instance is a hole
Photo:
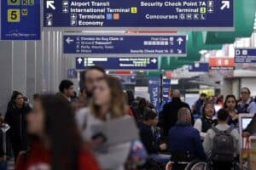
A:
{"label": "standing man in black jacket, back turned, behind the seated blue-jacketed man", "polygon": [[177,111],[183,107],[189,109],[189,105],[180,99],[179,90],[174,90],[172,94],[172,102],[164,105],[164,109],[160,114],[160,123],[163,127],[164,136],[168,135],[170,128],[177,122]]}

